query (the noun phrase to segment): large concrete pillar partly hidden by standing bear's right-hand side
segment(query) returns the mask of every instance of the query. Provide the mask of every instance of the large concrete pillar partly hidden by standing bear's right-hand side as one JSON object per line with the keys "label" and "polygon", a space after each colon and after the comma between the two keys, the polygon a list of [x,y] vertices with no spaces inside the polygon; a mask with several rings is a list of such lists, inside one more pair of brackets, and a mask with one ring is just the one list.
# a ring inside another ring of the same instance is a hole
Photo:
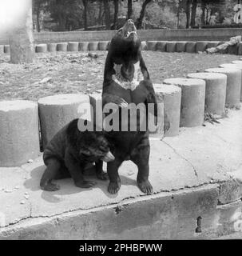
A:
{"label": "large concrete pillar partly hidden by standing bear's right-hand side", "polygon": [[164,112],[170,122],[170,128],[165,132],[166,137],[176,136],[179,133],[181,88],[165,84],[153,84],[158,102],[164,101]]}

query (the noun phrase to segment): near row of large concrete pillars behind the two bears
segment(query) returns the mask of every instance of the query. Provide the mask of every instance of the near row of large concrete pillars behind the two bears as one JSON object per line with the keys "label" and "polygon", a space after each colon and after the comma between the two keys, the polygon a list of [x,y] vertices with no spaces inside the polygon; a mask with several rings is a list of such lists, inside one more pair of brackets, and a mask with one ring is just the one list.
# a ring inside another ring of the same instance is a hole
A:
{"label": "near row of large concrete pillars behind the two bears", "polygon": [[[201,126],[204,112],[223,116],[225,106],[240,107],[242,60],[204,71],[154,84],[170,122],[165,136],[176,136],[181,126]],[[101,91],[54,95],[38,102],[0,102],[0,166],[19,166],[37,158],[40,142],[45,147],[61,127],[80,118],[80,106],[95,106],[98,100]],[[163,127],[159,133],[163,135]]]}

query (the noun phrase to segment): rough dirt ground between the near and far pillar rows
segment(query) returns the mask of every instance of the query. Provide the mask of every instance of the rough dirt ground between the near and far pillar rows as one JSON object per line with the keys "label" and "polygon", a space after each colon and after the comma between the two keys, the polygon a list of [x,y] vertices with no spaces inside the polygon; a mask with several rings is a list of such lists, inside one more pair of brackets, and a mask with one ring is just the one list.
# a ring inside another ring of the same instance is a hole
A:
{"label": "rough dirt ground between the near and far pillar rows", "polygon": [[[0,55],[0,100],[37,100],[67,93],[92,93],[102,87],[106,52],[36,54],[33,64],[10,64],[10,55]],[[94,58],[93,58],[94,57]],[[97,58],[95,58],[97,57]],[[236,55],[205,55],[144,51],[143,58],[153,82],[185,77],[222,63],[239,59]]]}

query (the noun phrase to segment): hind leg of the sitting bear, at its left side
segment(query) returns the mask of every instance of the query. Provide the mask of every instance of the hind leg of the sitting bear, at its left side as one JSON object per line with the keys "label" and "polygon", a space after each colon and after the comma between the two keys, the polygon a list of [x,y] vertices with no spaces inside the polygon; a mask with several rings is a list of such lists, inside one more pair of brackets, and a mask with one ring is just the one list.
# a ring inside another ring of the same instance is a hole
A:
{"label": "hind leg of the sitting bear, at its left side", "polygon": [[50,158],[46,161],[46,170],[44,171],[44,174],[42,174],[40,182],[42,190],[56,191],[60,189],[57,184],[52,183],[52,180],[58,177],[60,168],[61,162],[59,162],[58,159]]}

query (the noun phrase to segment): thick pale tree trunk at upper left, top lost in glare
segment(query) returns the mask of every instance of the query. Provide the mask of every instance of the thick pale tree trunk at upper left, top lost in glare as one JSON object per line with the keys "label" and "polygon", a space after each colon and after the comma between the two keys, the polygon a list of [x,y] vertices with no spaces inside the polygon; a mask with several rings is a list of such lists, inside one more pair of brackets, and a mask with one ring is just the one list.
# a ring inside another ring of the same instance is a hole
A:
{"label": "thick pale tree trunk at upper left, top lost in glare", "polygon": [[31,0],[24,0],[21,16],[18,17],[18,23],[12,26],[10,32],[10,62],[31,63],[34,61],[34,37]]}

